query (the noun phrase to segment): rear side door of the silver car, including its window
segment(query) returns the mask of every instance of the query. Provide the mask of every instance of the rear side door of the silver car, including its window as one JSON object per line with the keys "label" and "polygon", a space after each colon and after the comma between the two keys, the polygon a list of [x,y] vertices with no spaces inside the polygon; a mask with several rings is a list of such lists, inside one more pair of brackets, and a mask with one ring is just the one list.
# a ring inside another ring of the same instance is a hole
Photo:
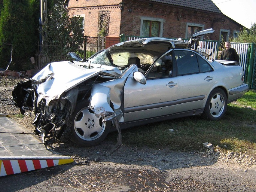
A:
{"label": "rear side door of the silver car, including its window", "polygon": [[176,112],[203,108],[215,81],[212,66],[192,50],[177,49],[173,55],[178,81]]}

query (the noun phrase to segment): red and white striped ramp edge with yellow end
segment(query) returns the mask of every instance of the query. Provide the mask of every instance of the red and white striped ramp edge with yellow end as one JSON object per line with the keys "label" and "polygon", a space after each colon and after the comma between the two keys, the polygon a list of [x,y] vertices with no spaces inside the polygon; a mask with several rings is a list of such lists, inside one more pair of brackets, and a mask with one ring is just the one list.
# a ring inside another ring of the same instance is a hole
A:
{"label": "red and white striped ramp edge with yellow end", "polygon": [[[69,156],[49,157],[0,157],[0,176],[32,171],[36,169],[72,163],[74,160]],[[62,158],[62,159],[61,159]]]}

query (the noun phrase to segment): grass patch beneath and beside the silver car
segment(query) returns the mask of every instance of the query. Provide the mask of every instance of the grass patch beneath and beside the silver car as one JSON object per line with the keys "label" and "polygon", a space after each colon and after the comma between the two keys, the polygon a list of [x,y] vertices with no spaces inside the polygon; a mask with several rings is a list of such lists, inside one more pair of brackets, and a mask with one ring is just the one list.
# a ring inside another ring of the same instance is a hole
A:
{"label": "grass patch beneath and beside the silver car", "polygon": [[[109,139],[116,137],[116,134],[110,134]],[[256,90],[250,90],[236,102],[230,103],[220,121],[184,117],[129,128],[122,131],[122,136],[126,145],[200,151],[203,149],[202,143],[209,142],[223,150],[247,151],[256,156]]]}

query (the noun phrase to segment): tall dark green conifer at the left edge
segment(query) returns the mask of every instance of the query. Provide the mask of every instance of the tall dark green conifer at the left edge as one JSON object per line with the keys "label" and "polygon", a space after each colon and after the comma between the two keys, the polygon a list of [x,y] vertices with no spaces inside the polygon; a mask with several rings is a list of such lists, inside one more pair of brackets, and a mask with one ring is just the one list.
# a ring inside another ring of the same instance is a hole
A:
{"label": "tall dark green conifer at the left edge", "polygon": [[29,0],[3,0],[0,17],[0,65],[6,68],[11,58],[16,70],[23,69],[23,64],[34,56],[35,30],[32,8]]}

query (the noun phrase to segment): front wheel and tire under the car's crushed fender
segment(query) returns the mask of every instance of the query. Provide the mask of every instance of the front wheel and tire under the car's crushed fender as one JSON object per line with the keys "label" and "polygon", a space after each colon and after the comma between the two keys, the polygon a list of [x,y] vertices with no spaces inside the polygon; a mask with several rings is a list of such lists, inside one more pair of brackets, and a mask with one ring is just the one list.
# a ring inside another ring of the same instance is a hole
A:
{"label": "front wheel and tire under the car's crushed fender", "polygon": [[110,122],[102,122],[89,108],[89,102],[79,102],[70,118],[71,141],[83,147],[97,145],[108,135]]}

